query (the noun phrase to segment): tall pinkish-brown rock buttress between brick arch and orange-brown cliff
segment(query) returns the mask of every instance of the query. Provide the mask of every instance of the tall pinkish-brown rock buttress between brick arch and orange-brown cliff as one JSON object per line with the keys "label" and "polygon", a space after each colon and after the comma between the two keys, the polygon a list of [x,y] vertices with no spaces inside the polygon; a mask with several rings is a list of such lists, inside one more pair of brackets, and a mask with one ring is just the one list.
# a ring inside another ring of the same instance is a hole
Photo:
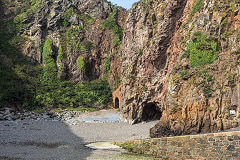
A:
{"label": "tall pinkish-brown rock buttress between brick arch and orange-brown cliff", "polygon": [[[129,12],[123,36],[121,91],[122,115],[130,123],[143,120],[144,108],[155,107],[156,113],[164,110],[161,96],[168,71],[175,63],[174,56],[178,54],[171,52],[170,44],[186,2],[139,2]],[[151,119],[154,114],[146,116]]]}

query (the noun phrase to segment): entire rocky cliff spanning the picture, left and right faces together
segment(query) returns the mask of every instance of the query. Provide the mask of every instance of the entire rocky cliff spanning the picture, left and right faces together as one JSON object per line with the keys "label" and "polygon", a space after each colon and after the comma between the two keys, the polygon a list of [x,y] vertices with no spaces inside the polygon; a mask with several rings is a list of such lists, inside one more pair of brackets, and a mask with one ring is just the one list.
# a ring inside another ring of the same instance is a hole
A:
{"label": "entire rocky cliff spanning the picture, left and right faces together", "polygon": [[62,80],[106,77],[123,119],[160,119],[152,137],[239,126],[239,0],[141,0],[129,11],[105,0],[31,2],[5,3],[23,54],[43,64],[51,39]]}

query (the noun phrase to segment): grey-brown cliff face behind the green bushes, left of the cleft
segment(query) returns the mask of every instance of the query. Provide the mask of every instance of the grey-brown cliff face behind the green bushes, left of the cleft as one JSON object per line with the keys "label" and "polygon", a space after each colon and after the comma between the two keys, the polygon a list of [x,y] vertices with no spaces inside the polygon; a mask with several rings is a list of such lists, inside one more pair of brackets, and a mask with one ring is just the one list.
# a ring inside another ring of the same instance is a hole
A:
{"label": "grey-brown cliff face behind the green bushes, left of the cleft", "polygon": [[[115,38],[112,26],[103,24],[108,16],[112,16],[109,25],[121,28],[126,14],[123,8],[104,0],[41,0],[24,8],[27,4],[11,2],[6,11],[10,13],[11,8],[18,8],[17,5],[24,10],[17,13],[13,23],[17,25],[18,34],[26,38],[23,54],[31,62],[42,63],[43,44],[46,39],[51,39],[53,57],[62,80],[90,81],[107,72],[104,71],[104,59],[114,59],[113,52],[117,52],[119,44],[112,42]],[[63,55],[58,59],[60,47]],[[79,68],[78,58],[84,60],[86,69]],[[111,83],[114,83],[114,77]]]}

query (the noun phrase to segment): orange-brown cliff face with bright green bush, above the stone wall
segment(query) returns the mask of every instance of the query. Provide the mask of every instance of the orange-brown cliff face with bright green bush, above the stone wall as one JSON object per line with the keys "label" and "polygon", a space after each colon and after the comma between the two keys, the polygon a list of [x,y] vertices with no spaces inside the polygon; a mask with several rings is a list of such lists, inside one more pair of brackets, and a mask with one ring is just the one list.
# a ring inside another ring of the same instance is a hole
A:
{"label": "orange-brown cliff face with bright green bush, above the stone wall", "polygon": [[195,1],[179,59],[162,97],[152,137],[215,132],[239,126],[239,1]]}

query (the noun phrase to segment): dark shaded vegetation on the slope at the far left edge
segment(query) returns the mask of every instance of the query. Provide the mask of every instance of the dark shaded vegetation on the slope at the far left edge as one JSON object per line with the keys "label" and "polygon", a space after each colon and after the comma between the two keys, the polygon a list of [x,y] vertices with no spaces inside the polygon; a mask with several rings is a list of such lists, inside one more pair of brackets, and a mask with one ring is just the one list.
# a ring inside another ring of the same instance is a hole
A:
{"label": "dark shaded vegetation on the slope at the far left edge", "polygon": [[31,107],[39,68],[31,66],[20,54],[18,47],[25,39],[5,32],[4,23],[0,23],[0,28],[0,108],[9,103]]}

